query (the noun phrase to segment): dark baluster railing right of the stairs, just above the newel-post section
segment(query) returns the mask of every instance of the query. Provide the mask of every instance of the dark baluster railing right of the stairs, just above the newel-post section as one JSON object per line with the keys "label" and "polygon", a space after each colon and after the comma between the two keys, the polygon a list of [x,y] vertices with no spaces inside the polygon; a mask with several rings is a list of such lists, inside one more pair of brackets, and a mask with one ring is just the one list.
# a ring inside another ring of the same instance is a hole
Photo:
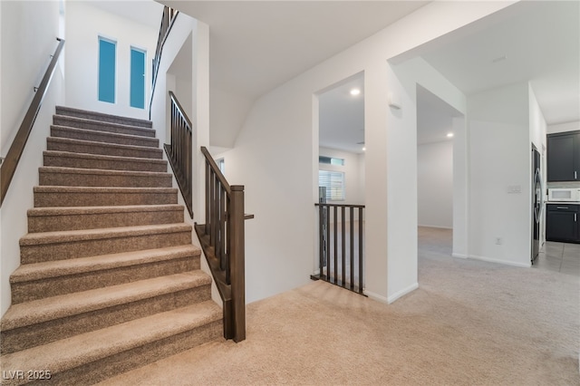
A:
{"label": "dark baluster railing right of the stairs, just above the newel-post section", "polygon": [[179,190],[188,207],[189,217],[193,218],[193,125],[188,115],[179,104],[173,92],[169,92],[171,99],[171,141],[164,144],[169,165],[173,169]]}

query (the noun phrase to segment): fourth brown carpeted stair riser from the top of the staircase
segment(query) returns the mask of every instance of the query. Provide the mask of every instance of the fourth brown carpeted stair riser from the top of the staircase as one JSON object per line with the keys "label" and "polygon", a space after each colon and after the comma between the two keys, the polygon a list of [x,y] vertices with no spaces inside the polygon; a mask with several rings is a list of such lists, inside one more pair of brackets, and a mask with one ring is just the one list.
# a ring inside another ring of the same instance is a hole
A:
{"label": "fourth brown carpeted stair riser from the top of the staircase", "polygon": [[116,143],[94,142],[91,140],[74,140],[71,138],[49,137],[46,139],[46,150],[142,159],[163,159],[163,150],[157,148],[127,146]]}

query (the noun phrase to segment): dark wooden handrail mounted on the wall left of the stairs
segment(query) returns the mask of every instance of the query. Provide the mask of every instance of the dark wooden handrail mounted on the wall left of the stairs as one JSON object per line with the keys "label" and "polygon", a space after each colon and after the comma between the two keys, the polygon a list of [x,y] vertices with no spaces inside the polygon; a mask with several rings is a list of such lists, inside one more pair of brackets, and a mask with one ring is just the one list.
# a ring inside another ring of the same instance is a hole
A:
{"label": "dark wooden handrail mounted on the wall left of the stairs", "polygon": [[8,150],[8,153],[6,153],[5,159],[2,160],[2,164],[0,165],[0,206],[2,206],[2,203],[4,202],[6,192],[8,191],[10,182],[14,177],[14,172],[16,171],[18,162],[22,157],[24,147],[28,141],[28,137],[33,130],[34,121],[36,121],[36,116],[38,115],[38,111],[40,111],[41,105],[43,104],[46,91],[48,90],[51,80],[53,79],[54,68],[56,67],[58,58],[63,51],[64,39],[57,37],[56,40],[59,43],[56,47],[56,50],[54,51],[54,54],[52,55],[53,59],[48,65],[46,72],[44,72],[43,80],[40,82],[40,85],[38,87],[34,87],[35,94],[33,101],[30,103],[30,107],[28,108],[28,111],[26,111],[26,115],[24,115],[24,120],[20,124],[20,128],[18,129],[18,132],[16,132],[16,136],[10,145],[10,149]]}

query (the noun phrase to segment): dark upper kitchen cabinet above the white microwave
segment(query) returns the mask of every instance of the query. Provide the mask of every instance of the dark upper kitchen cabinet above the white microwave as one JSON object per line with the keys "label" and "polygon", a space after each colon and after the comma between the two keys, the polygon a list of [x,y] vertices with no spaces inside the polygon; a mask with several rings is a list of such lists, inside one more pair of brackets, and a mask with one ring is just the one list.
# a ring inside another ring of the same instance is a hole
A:
{"label": "dark upper kitchen cabinet above the white microwave", "polygon": [[547,136],[547,180],[580,181],[580,130]]}

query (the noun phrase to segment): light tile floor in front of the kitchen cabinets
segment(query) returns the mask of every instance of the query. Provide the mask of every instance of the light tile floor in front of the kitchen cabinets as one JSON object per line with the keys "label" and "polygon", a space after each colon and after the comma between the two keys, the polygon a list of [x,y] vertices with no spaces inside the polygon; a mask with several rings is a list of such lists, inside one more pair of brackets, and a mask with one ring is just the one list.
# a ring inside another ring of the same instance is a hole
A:
{"label": "light tile floor in front of the kitchen cabinets", "polygon": [[580,244],[546,241],[532,267],[580,276]]}

